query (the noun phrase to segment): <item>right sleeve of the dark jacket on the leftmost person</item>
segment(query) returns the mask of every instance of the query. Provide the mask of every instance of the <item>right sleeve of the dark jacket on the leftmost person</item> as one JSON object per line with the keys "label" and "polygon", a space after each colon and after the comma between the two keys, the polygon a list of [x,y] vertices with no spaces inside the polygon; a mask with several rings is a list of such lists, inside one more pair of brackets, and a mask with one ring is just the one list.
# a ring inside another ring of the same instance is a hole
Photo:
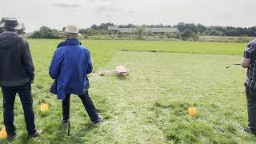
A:
{"label": "right sleeve of the dark jacket on the leftmost person", "polygon": [[30,82],[34,81],[34,64],[30,53],[30,45],[26,39],[22,38],[22,64],[25,67],[26,74],[30,77]]}

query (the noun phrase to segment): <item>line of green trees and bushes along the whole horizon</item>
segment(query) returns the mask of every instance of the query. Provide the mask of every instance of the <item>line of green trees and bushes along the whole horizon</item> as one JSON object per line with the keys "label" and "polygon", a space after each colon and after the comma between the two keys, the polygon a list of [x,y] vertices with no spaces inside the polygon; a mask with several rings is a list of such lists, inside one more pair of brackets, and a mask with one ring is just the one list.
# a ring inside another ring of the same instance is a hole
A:
{"label": "line of green trees and bushes along the whole horizon", "polygon": [[[2,18],[0,23],[5,22],[5,18]],[[92,25],[86,29],[80,29],[79,33],[83,34],[86,38],[91,35],[110,35],[112,34],[108,30],[108,26],[115,26],[112,22],[102,23],[100,25]],[[234,26],[204,26],[202,24],[185,23],[180,22],[177,25],[119,25],[120,28],[135,28],[134,34],[139,34],[143,28],[172,28],[176,27],[180,31],[180,34],[166,34],[167,38],[198,38],[199,36],[227,36],[227,37],[256,37],[256,26],[253,27],[234,27]],[[2,33],[0,29],[0,33]],[[19,30],[20,34],[25,33],[25,27]],[[148,34],[142,35],[153,35],[148,32]],[[141,37],[141,36],[139,36]],[[39,30],[34,31],[31,38],[62,38],[62,34],[59,30],[51,29],[47,26],[42,26]]]}

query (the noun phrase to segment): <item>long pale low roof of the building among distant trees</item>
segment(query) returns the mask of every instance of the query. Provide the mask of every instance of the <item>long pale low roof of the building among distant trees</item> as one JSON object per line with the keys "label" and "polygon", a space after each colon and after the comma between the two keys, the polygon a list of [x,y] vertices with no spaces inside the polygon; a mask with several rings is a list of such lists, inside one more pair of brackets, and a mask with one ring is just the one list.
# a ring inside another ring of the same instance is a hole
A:
{"label": "long pale low roof of the building among distant trees", "polygon": [[[108,30],[117,30],[121,33],[131,33],[136,30],[135,28],[119,28],[118,26],[108,26]],[[166,33],[166,32],[179,32],[176,27],[172,28],[145,28],[145,32],[153,32],[153,33]]]}

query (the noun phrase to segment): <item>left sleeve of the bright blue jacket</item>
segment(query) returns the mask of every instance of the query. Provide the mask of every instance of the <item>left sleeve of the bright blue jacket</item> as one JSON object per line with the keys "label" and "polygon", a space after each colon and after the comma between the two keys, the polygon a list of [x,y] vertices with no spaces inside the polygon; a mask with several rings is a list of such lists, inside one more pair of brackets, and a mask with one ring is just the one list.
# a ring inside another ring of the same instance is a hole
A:
{"label": "left sleeve of the bright blue jacket", "polygon": [[59,73],[60,67],[62,65],[62,61],[63,61],[63,54],[57,50],[54,53],[54,57],[50,63],[49,74],[50,74],[51,78],[53,78],[53,79],[58,78],[58,73]]}

